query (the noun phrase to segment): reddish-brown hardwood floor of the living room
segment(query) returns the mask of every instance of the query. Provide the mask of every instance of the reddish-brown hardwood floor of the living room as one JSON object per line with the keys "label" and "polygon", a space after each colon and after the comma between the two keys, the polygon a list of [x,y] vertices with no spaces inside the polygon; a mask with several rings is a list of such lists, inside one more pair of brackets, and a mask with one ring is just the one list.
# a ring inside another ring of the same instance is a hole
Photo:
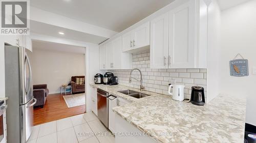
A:
{"label": "reddish-brown hardwood floor of the living room", "polygon": [[39,125],[75,115],[79,115],[86,111],[86,106],[76,106],[68,108],[65,100],[60,94],[51,94],[47,96],[44,108],[34,108],[33,125]]}

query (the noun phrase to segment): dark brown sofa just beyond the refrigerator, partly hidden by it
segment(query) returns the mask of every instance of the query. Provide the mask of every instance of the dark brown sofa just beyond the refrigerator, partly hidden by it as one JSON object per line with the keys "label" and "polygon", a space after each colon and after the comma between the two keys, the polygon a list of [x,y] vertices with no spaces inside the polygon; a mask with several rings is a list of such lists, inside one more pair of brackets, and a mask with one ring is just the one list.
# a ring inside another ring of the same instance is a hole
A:
{"label": "dark brown sofa just beyond the refrigerator, partly hidden by it", "polygon": [[33,85],[33,96],[37,100],[35,106],[44,107],[46,103],[46,97],[49,94],[49,90],[47,89],[47,84],[38,84]]}

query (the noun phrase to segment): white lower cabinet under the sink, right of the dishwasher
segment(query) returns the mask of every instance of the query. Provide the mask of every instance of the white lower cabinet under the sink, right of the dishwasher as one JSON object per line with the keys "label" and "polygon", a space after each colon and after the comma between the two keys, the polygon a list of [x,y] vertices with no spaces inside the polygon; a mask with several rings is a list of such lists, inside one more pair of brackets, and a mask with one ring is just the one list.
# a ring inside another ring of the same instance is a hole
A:
{"label": "white lower cabinet under the sink, right of the dishwasher", "polygon": [[116,132],[116,113],[113,111],[113,108],[116,106],[123,106],[128,103],[131,102],[123,98],[115,98],[114,100],[109,100],[109,129],[111,132]]}

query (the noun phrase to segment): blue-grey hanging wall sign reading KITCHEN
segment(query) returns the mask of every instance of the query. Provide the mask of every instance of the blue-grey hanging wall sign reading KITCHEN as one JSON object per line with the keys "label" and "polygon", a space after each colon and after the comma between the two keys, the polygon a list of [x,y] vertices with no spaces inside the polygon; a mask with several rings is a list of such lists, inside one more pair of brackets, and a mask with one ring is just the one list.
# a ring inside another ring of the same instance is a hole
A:
{"label": "blue-grey hanging wall sign reading KITCHEN", "polygon": [[229,62],[230,76],[243,77],[248,76],[248,60],[237,59]]}

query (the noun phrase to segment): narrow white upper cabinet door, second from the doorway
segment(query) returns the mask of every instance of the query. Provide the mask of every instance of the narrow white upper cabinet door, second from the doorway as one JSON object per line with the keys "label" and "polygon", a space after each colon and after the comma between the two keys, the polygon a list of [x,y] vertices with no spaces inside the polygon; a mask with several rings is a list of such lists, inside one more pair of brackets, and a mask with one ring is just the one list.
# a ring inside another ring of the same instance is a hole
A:
{"label": "narrow white upper cabinet door, second from the doorway", "polygon": [[113,47],[112,47],[112,41],[105,44],[106,46],[106,69],[112,69],[113,68]]}

